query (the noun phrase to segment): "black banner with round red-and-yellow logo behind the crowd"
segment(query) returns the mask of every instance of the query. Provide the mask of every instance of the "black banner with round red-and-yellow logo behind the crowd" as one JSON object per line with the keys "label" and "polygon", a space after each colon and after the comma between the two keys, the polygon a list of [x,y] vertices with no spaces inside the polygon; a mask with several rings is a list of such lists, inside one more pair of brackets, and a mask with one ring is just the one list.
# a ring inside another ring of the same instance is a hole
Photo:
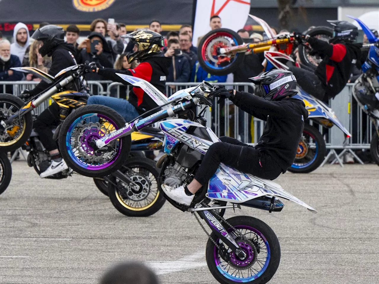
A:
{"label": "black banner with round red-and-yellow logo behind the crowd", "polygon": [[[193,0],[0,0],[0,31],[17,22],[29,24],[89,24],[96,18],[115,19],[127,25],[190,24]],[[166,28],[167,29],[167,28]]]}

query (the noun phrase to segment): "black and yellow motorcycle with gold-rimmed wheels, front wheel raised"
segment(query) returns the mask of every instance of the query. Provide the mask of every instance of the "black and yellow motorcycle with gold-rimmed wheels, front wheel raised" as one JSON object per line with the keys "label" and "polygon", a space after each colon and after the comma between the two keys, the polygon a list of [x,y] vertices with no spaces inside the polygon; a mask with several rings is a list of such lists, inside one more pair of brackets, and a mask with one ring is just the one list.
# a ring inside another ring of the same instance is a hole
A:
{"label": "black and yellow motorcycle with gold-rimmed wheels, front wheel raised", "polygon": [[[0,150],[3,150],[3,147],[5,151],[21,147],[29,151],[28,165],[40,174],[50,165],[51,157],[39,140],[39,134],[32,130],[32,111],[51,97],[58,104],[60,119],[64,121],[72,110],[85,106],[90,96],[85,84],[87,70],[84,65],[74,65],[61,70],[53,77],[33,67],[13,69],[32,73],[50,84],[50,87],[27,102],[14,95],[0,94],[0,103],[3,105],[0,115],[6,119],[2,120],[2,125],[8,125],[6,131],[3,128]],[[112,126],[108,124],[103,125],[101,131],[108,133],[112,130]],[[60,125],[54,131],[54,138],[58,139]],[[128,156],[130,159],[125,161],[122,169],[112,176],[94,176],[98,189],[105,195],[108,195],[109,191],[112,192],[110,199],[113,205],[124,215],[148,216],[157,212],[164,204],[165,200],[158,192],[158,170],[154,162],[141,153],[159,150],[162,147],[162,135],[154,128],[136,132],[131,138],[133,151]],[[47,178],[67,178],[72,172],[72,168],[68,168]]]}

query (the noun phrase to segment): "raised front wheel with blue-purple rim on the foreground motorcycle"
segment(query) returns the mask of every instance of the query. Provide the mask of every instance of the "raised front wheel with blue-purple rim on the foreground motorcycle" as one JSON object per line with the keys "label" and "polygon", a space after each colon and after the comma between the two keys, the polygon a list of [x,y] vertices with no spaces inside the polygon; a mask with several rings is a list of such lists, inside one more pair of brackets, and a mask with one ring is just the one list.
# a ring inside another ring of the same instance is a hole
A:
{"label": "raised front wheel with blue-purple rim on the foreground motorcycle", "polygon": [[75,109],[63,122],[58,145],[67,165],[80,175],[103,177],[119,168],[128,157],[130,135],[94,150],[91,141],[125,126],[124,118],[116,111],[101,105],[86,105]]}

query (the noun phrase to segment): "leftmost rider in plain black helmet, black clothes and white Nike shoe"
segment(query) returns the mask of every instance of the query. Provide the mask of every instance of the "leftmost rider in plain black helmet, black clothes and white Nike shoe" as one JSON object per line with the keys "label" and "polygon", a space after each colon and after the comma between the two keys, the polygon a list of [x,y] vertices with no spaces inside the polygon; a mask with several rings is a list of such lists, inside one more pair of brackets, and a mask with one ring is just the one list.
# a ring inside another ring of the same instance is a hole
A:
{"label": "leftmost rider in plain black helmet, black clothes and white Nike shoe", "polygon": [[[74,45],[64,42],[64,31],[61,27],[47,25],[33,33],[33,39],[42,41],[39,53],[43,56],[52,56],[52,66],[49,74],[55,76],[62,69],[76,65],[76,51]],[[32,97],[47,89],[50,85],[41,81],[33,90],[23,93],[23,97]],[[49,151],[52,162],[50,166],[40,174],[41,178],[54,175],[68,169],[66,162],[61,158],[56,142],[53,140],[52,129],[60,123],[59,106],[52,103],[34,121],[34,129],[39,134],[39,139]]]}

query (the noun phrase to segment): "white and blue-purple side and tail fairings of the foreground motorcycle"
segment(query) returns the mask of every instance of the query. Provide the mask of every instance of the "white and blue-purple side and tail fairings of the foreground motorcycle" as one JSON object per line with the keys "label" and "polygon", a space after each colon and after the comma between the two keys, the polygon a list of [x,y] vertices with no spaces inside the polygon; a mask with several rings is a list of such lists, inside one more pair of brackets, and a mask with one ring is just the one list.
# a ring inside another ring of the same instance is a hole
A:
{"label": "white and blue-purple side and tail fairings of the foreground motorcycle", "polygon": [[[186,133],[191,126],[205,129],[211,140]],[[165,135],[164,151],[167,154],[170,154],[179,142],[188,145],[201,154],[205,154],[210,145],[219,141],[210,128],[189,120],[166,120],[160,122],[160,127]],[[206,196],[210,200],[228,201],[242,205],[248,200],[262,196],[282,197],[304,206],[313,213],[317,213],[316,209],[286,192],[279,184],[240,172],[224,164],[220,164],[217,172],[208,182]]]}

